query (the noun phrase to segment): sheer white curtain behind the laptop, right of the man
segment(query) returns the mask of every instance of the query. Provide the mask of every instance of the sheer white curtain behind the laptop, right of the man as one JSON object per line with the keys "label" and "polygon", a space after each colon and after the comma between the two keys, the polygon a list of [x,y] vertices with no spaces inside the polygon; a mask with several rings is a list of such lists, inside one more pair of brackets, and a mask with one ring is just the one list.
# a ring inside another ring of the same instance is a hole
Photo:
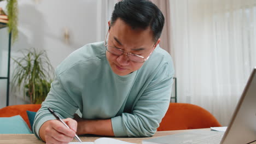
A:
{"label": "sheer white curtain behind the laptop, right of the man", "polygon": [[256,66],[256,1],[170,0],[162,5],[169,14],[166,39],[178,102],[199,105],[228,125]]}

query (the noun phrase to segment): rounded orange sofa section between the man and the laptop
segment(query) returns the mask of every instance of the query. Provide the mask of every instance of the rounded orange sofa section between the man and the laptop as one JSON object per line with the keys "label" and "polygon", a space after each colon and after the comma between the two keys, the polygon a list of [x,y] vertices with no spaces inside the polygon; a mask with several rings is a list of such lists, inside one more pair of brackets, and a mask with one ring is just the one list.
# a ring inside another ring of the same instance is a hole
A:
{"label": "rounded orange sofa section between the man and the laptop", "polygon": [[158,131],[221,127],[217,119],[200,106],[170,103]]}

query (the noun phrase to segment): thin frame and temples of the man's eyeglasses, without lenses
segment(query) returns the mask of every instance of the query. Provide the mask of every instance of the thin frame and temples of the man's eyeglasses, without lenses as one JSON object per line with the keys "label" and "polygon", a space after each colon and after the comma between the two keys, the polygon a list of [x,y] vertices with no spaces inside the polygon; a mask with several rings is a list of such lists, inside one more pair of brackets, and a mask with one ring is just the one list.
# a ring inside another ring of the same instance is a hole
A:
{"label": "thin frame and temples of the man's eyeglasses, without lenses", "polygon": [[144,58],[144,61],[143,61],[143,62],[132,61],[132,60],[129,58],[130,61],[136,62],[136,63],[144,63],[144,62],[147,61],[148,58],[152,55],[152,52],[153,52],[154,47],[155,47],[155,44],[153,45],[153,48],[152,48],[150,54],[148,55],[148,57],[145,58],[145,57],[143,57],[143,56],[139,56],[139,55],[136,55],[136,54],[131,53],[131,52],[125,52],[124,50],[121,50],[121,49],[119,49],[119,48],[117,48],[117,47],[115,47],[115,46],[108,45],[108,44],[107,44],[107,36],[108,36],[108,33],[109,33],[109,31],[107,32],[106,38],[105,38],[105,41],[104,41],[104,46],[105,46],[106,51],[110,52],[110,51],[107,49],[107,46],[109,46],[109,47],[113,47],[113,48],[115,48],[115,49],[117,49],[117,50],[119,50],[119,51],[121,52],[120,55],[117,55],[117,54],[115,54],[115,53],[110,52],[110,53],[112,53],[113,55],[115,55],[115,56],[121,56],[121,55],[124,55],[124,54],[125,54],[128,58],[130,57],[130,55],[137,56],[137,57],[140,57],[140,58]]}

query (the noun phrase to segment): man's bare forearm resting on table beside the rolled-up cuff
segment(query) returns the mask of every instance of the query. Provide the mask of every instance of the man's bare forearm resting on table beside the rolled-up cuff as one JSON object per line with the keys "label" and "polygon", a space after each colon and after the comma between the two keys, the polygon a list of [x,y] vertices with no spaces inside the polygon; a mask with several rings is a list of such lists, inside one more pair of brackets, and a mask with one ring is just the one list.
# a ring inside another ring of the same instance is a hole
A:
{"label": "man's bare forearm resting on table beside the rolled-up cuff", "polygon": [[80,120],[78,121],[77,134],[114,136],[111,119]]}

